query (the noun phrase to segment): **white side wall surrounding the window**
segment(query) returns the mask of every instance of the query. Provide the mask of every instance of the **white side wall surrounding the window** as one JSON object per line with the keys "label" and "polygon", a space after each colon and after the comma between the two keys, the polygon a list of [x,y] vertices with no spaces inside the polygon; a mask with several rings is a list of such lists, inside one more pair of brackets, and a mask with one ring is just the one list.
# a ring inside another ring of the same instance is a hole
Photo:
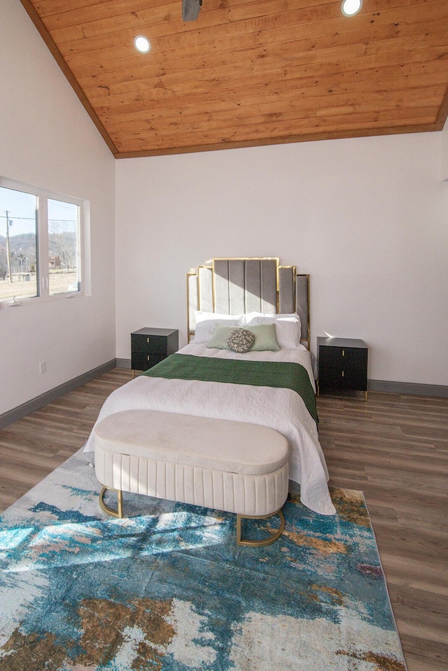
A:
{"label": "white side wall surrounding the window", "polygon": [[0,310],[1,414],[116,347],[115,160],[18,0],[1,3],[0,71],[0,175],[89,200],[94,260],[91,297]]}

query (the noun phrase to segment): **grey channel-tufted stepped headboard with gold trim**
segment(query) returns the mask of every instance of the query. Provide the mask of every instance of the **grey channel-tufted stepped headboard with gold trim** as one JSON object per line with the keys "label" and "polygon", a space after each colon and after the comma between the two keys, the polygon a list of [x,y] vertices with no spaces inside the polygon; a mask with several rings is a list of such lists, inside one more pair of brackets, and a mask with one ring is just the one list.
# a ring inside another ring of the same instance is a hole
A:
{"label": "grey channel-tufted stepped headboard with gold trim", "polygon": [[188,341],[195,333],[195,310],[220,314],[297,312],[302,342],[309,348],[309,276],[279,259],[212,259],[187,274]]}

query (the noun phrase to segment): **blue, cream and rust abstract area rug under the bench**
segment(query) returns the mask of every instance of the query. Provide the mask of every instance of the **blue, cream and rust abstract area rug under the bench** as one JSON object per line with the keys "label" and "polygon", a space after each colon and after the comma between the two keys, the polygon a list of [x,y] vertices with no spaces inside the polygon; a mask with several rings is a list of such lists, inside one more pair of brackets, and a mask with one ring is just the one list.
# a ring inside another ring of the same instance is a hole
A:
{"label": "blue, cream and rust abstract area rug under the bench", "polygon": [[235,515],[125,494],[106,518],[98,492],[78,453],[1,516],[0,671],[405,670],[362,493],[293,497],[251,548]]}

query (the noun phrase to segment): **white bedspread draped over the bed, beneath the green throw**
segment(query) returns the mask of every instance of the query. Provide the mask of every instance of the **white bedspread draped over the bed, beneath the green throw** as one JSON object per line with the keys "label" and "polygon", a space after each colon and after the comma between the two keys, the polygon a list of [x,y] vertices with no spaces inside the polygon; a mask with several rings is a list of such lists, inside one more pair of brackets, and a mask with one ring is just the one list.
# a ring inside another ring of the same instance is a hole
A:
{"label": "white bedspread draped over the bed, beneath the green throw", "polygon": [[[179,354],[296,362],[307,369],[314,386],[311,357],[305,348],[282,348],[279,352],[236,354],[229,350],[209,349],[204,345],[190,343],[183,347]],[[307,411],[302,398],[295,391],[244,384],[138,376],[111,393],[104,402],[97,421],[113,413],[130,409],[218,417],[265,425],[279,431],[290,444],[289,477],[300,483],[300,498],[303,504],[323,515],[335,513],[335,507],[328,493],[328,470],[318,442],[316,423]],[[84,452],[87,460],[92,462],[93,433],[85,444]]]}

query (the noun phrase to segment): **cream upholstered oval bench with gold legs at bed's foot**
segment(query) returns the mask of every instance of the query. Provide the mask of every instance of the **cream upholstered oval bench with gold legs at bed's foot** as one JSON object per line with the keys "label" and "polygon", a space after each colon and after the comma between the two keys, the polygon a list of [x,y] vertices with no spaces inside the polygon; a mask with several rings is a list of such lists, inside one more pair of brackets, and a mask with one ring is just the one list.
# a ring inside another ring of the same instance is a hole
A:
{"label": "cream upholstered oval bench with gold legs at bed's foot", "polygon": [[[94,427],[99,504],[123,517],[123,491],[237,514],[237,543],[274,542],[285,525],[288,442],[265,426],[152,410],[125,410]],[[118,509],[104,503],[118,493]],[[241,539],[241,518],[278,514],[267,539]]]}

